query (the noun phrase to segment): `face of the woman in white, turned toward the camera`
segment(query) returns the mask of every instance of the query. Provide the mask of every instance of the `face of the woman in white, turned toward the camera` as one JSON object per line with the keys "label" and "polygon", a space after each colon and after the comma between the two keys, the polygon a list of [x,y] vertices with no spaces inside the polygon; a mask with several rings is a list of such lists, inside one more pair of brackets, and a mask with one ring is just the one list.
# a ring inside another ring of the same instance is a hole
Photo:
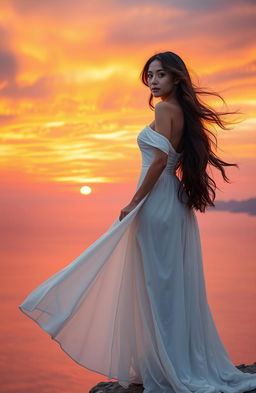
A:
{"label": "face of the woman in white, turned toward the camera", "polygon": [[150,63],[147,83],[154,97],[165,99],[174,92],[173,77],[163,69],[160,60],[153,60]]}

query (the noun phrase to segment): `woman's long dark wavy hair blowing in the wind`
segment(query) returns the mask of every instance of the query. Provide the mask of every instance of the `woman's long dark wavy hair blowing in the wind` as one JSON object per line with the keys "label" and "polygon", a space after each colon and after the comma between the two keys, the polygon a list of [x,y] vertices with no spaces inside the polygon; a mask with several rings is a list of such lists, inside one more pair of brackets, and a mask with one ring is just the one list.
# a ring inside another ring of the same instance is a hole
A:
{"label": "woman's long dark wavy hair blowing in the wind", "polygon": [[[166,72],[171,73],[174,80],[178,80],[176,97],[184,114],[183,154],[176,168],[180,177],[178,196],[184,202],[182,196],[185,192],[185,203],[187,206],[190,209],[194,208],[204,213],[207,206],[215,206],[215,189],[217,187],[214,179],[207,173],[207,165],[210,164],[217,168],[221,172],[223,179],[228,183],[230,181],[225,173],[224,166],[238,167],[237,164],[221,160],[212,151],[212,144],[217,148],[217,138],[209,130],[207,123],[217,124],[223,130],[229,130],[230,128],[226,127],[229,123],[221,117],[241,112],[217,112],[205,104],[199,98],[200,94],[217,96],[223,103],[226,104],[226,102],[220,94],[203,90],[201,87],[196,86],[191,81],[183,60],[173,52],[157,53],[148,59],[140,75],[144,85],[148,86],[147,72],[153,60],[159,60],[162,68]],[[152,100],[153,95],[151,93],[149,106],[154,110]],[[214,139],[210,136],[213,136]]]}

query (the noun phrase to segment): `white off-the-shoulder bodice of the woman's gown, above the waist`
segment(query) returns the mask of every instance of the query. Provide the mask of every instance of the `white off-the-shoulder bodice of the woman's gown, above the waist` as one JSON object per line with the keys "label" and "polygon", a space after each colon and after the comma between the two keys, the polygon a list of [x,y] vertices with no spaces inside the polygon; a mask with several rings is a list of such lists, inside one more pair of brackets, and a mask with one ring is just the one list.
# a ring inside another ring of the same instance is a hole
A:
{"label": "white off-the-shoulder bodice of the woman's gown, above the waist", "polygon": [[182,153],[176,152],[164,135],[154,131],[150,126],[146,126],[138,134],[137,143],[142,154],[142,168],[147,168],[151,165],[154,159],[154,149],[152,147],[157,147],[168,154],[167,165],[163,173],[175,173]]}

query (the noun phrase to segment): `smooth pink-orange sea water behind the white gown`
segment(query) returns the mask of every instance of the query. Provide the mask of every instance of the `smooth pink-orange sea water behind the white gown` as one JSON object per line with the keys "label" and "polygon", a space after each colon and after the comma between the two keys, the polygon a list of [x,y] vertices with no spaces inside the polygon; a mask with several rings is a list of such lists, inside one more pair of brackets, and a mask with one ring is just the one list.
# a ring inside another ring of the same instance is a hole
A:
{"label": "smooth pink-orange sea water behind the white gown", "polygon": [[[0,288],[3,392],[80,393],[88,392],[99,381],[107,381],[106,377],[73,362],[17,306],[32,289],[71,262],[96,239],[108,227],[106,222],[110,225],[111,217],[116,218],[113,210],[109,214],[104,225],[94,222],[94,232],[79,215],[72,215],[72,219],[71,215],[67,216],[66,227],[63,216],[59,222],[55,216],[53,228],[47,214],[45,221],[41,217],[42,226],[37,230],[36,226],[24,223],[23,230],[16,234],[5,231],[1,256],[4,274]],[[255,218],[225,212],[197,216],[208,299],[217,328],[233,362],[252,363],[256,360],[252,334],[256,327]]]}

